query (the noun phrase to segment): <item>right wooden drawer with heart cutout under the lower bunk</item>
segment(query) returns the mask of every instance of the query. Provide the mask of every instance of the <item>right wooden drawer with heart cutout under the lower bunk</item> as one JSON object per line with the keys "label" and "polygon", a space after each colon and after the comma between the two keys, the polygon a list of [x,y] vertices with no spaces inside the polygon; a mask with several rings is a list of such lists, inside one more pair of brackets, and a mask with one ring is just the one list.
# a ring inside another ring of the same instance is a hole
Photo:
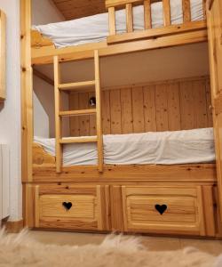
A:
{"label": "right wooden drawer with heart cutout under the lower bunk", "polygon": [[205,235],[202,187],[123,186],[125,231]]}

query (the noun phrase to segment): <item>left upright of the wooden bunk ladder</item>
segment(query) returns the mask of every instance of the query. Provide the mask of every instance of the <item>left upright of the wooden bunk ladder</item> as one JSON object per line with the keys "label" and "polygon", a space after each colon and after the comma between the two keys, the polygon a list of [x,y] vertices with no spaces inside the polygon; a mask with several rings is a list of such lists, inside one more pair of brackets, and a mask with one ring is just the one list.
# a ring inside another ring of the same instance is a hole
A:
{"label": "left upright of the wooden bunk ladder", "polygon": [[54,56],[54,95],[55,95],[55,148],[56,148],[56,172],[61,172],[62,165],[62,144],[61,140],[61,117],[59,116],[60,111],[60,69],[59,69],[59,57]]}

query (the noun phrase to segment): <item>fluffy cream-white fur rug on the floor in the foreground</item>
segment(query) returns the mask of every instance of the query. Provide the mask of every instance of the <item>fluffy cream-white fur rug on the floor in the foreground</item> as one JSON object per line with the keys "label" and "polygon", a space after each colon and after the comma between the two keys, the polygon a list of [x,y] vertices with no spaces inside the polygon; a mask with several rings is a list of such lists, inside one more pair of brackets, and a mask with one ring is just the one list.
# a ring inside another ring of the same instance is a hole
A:
{"label": "fluffy cream-white fur rug on the floor in the foreground", "polygon": [[100,245],[83,247],[44,245],[28,237],[0,232],[0,267],[221,267],[215,257],[186,248],[178,251],[147,251],[139,239],[109,236]]}

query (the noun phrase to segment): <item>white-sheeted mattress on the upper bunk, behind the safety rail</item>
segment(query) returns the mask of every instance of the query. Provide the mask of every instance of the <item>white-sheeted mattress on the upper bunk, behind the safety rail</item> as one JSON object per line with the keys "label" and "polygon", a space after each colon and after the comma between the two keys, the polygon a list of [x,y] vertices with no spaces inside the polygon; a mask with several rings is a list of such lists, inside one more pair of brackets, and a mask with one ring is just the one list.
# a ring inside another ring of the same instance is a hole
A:
{"label": "white-sheeted mattress on the upper bunk, behind the safety rail", "polygon": [[[202,0],[190,0],[191,20],[203,20]],[[163,2],[151,5],[152,28],[163,27]],[[182,0],[170,0],[171,24],[183,23]],[[125,10],[115,12],[117,34],[126,32]],[[78,44],[98,43],[108,36],[108,14],[102,13],[77,20],[33,26],[52,40],[57,48]],[[144,29],[143,5],[133,8],[134,30]]]}

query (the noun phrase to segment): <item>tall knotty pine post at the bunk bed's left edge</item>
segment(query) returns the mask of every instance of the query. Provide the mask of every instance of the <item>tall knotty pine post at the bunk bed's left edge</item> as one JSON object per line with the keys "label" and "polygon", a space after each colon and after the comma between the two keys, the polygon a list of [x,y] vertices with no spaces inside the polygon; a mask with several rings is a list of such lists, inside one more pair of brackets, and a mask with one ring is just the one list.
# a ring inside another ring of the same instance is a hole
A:
{"label": "tall knotty pine post at the bunk bed's left edge", "polygon": [[33,82],[31,67],[31,0],[20,0],[21,174],[32,182]]}

